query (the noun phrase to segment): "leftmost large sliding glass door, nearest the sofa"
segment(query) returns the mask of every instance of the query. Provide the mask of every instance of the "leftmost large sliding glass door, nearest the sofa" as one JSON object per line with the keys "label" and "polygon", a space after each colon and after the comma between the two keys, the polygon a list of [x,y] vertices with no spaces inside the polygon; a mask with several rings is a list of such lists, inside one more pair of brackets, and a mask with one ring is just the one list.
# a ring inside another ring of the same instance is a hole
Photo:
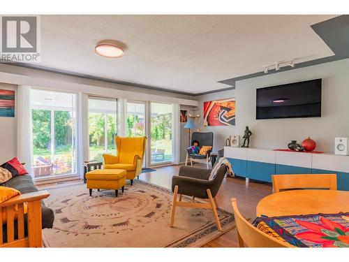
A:
{"label": "leftmost large sliding glass door, nearest the sofa", "polygon": [[76,173],[76,95],[31,89],[32,171],[36,178]]}

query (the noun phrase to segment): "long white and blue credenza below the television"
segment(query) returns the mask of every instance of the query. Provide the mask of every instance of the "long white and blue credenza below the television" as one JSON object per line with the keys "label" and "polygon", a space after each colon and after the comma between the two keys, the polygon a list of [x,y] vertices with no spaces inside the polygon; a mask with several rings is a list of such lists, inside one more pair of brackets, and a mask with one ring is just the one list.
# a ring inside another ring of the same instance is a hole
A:
{"label": "long white and blue credenza below the television", "polygon": [[248,179],[272,182],[274,174],[335,173],[338,189],[349,191],[349,156],[224,147],[224,157],[236,175]]}

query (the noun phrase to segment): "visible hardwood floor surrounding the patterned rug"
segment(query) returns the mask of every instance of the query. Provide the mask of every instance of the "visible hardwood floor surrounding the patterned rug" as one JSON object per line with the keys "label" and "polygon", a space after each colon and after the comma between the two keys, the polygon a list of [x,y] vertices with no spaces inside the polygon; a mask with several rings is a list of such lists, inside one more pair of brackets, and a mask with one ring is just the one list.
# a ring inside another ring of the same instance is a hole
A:
{"label": "visible hardwood floor surrounding the patterned rug", "polygon": [[[202,166],[196,164],[195,166]],[[180,166],[166,166],[162,168],[154,168],[156,171],[149,173],[142,173],[140,180],[158,184],[162,187],[171,189],[172,176],[177,175]],[[202,166],[205,168],[205,166]],[[57,184],[57,187],[64,187],[66,184],[80,182],[80,180],[73,180],[71,182],[63,182]],[[52,188],[52,184],[40,185],[38,188]],[[237,204],[240,212],[244,217],[248,217],[253,221],[255,218],[255,208],[263,197],[272,194],[272,185],[262,182],[250,182],[246,184],[245,179],[239,177],[225,177],[216,196],[219,208],[232,212],[232,205],[230,198],[237,198]],[[213,214],[212,214],[213,216]],[[207,243],[204,247],[238,247],[236,229],[232,229],[220,237]]]}

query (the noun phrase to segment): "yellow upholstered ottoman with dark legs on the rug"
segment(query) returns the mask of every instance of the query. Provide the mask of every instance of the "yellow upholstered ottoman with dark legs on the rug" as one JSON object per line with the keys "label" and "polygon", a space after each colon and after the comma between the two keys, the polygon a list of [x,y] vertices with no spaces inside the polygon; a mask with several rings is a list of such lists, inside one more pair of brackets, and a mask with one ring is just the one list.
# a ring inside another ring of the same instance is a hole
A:
{"label": "yellow upholstered ottoman with dark legs on the rug", "polygon": [[92,196],[92,189],[114,189],[115,197],[121,187],[124,192],[126,184],[126,170],[124,169],[96,169],[86,173],[87,188]]}

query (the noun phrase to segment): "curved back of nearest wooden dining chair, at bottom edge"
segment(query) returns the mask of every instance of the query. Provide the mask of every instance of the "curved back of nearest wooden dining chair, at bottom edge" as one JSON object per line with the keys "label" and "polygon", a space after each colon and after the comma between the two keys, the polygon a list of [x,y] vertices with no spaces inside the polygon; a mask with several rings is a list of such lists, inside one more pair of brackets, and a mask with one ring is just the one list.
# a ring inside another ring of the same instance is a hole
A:
{"label": "curved back of nearest wooden dining chair, at bottom edge", "polygon": [[282,242],[249,223],[237,208],[235,198],[231,199],[232,210],[234,211],[235,222],[237,224],[237,238],[239,239],[240,247],[295,247],[288,242]]}

